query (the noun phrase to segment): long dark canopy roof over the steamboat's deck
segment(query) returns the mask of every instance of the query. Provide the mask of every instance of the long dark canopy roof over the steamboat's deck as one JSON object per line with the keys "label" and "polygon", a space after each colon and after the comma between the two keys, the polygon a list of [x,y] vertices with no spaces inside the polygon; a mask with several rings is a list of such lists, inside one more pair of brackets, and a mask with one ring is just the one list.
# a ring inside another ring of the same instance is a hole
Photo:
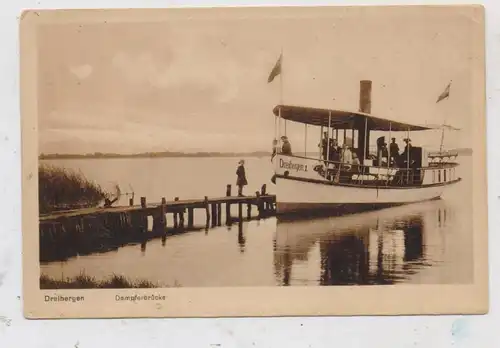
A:
{"label": "long dark canopy roof over the steamboat's deck", "polygon": [[409,123],[392,121],[385,118],[375,117],[371,114],[363,112],[343,111],[343,110],[329,110],[318,109],[303,106],[293,105],[277,105],[273,112],[279,116],[281,109],[281,117],[285,120],[295,121],[299,123],[310,124],[314,126],[328,127],[329,115],[331,118],[331,127],[336,129],[356,129],[364,126],[365,119],[367,119],[368,127],[370,130],[375,131],[422,131],[434,129],[433,127],[419,126]]}

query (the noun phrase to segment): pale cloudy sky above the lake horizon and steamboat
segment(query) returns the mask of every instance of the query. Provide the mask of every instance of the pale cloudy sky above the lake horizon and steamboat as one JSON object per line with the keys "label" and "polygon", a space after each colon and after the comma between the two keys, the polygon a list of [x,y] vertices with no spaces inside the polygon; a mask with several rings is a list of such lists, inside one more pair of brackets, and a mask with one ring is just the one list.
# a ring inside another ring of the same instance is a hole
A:
{"label": "pale cloudy sky above the lake horizon and steamboat", "polygon": [[[470,145],[469,13],[242,13],[42,25],[40,152],[270,151],[280,86],[285,104],[357,111],[364,79],[374,115],[446,122],[462,129],[446,132],[446,146]],[[281,51],[282,77],[267,83]],[[414,145],[439,146],[440,131],[419,133]],[[304,125],[289,123],[287,135],[295,149],[312,149],[320,130],[309,127],[305,142]]]}

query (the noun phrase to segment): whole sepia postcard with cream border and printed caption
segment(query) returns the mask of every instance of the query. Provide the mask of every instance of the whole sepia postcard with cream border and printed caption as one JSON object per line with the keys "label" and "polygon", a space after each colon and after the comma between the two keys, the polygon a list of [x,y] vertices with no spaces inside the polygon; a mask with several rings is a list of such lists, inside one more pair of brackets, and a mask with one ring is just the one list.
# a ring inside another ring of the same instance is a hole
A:
{"label": "whole sepia postcard with cream border and printed caption", "polygon": [[26,317],[488,311],[483,7],[20,31]]}

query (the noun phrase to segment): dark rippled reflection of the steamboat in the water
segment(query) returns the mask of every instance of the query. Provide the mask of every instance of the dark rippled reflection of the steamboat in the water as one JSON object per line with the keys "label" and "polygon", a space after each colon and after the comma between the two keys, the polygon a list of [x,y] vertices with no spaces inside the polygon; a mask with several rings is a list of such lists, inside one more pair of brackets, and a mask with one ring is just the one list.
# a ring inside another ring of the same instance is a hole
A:
{"label": "dark rippled reflection of the steamboat in the water", "polygon": [[443,259],[443,249],[435,246],[444,243],[435,238],[444,238],[449,209],[435,200],[335,218],[279,221],[276,281],[285,286],[406,282]]}

